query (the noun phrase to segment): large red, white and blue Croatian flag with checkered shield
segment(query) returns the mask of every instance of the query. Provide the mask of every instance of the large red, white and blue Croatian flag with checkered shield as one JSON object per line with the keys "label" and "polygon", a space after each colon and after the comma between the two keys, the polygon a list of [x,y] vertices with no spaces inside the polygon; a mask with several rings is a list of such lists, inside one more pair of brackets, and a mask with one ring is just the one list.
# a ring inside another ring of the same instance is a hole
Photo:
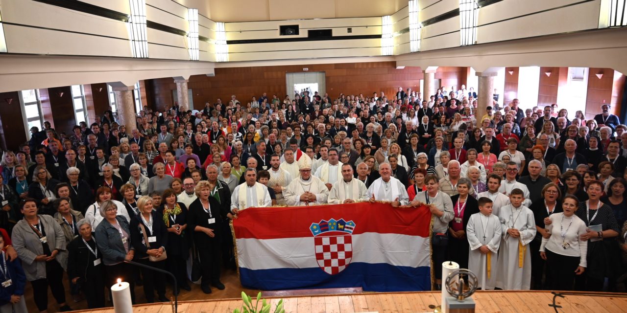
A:
{"label": "large red, white and blue Croatian flag with checkered shield", "polygon": [[233,220],[241,284],[285,290],[431,290],[426,206],[249,208]]}

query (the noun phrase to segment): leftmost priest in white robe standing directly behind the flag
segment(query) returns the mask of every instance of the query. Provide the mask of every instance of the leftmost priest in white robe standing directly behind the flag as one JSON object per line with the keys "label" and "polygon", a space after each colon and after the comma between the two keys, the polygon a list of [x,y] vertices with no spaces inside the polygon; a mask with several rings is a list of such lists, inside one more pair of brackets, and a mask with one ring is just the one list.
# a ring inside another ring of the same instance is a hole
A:
{"label": "leftmost priest in white robe standing directly behind the flag", "polygon": [[257,170],[246,168],[244,177],[246,182],[235,187],[231,195],[231,212],[237,213],[250,207],[270,207],[272,199],[268,187],[256,182]]}

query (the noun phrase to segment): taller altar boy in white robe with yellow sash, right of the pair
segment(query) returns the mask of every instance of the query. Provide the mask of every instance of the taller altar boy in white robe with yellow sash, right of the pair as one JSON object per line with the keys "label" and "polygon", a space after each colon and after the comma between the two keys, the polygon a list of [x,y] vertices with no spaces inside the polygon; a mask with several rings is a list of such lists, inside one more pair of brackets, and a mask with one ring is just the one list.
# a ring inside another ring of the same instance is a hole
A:
{"label": "taller altar boy in white robe with yellow sash, right of the pair", "polygon": [[524,193],[514,188],[510,205],[502,207],[502,241],[498,251],[497,287],[504,290],[529,290],[531,284],[531,252],[529,243],[535,237],[534,212],[522,205]]}

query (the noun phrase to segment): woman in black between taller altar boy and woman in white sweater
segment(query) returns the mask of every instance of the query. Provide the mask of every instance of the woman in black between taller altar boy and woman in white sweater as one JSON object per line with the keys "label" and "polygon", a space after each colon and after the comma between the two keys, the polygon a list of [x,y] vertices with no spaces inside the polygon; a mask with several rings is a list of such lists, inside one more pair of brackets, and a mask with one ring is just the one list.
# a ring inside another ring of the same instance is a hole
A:
{"label": "woman in black between taller altar boy and woman in white sweater", "polygon": [[532,289],[542,290],[546,285],[552,284],[552,282],[545,282],[542,284],[542,277],[545,274],[545,263],[540,258],[540,244],[542,244],[542,237],[549,238],[551,233],[547,232],[544,226],[544,219],[549,217],[553,213],[562,212],[562,192],[555,183],[547,183],[540,192],[542,197],[536,200],[529,207],[534,212],[535,220],[535,238],[529,244],[531,251],[531,277],[532,277]]}

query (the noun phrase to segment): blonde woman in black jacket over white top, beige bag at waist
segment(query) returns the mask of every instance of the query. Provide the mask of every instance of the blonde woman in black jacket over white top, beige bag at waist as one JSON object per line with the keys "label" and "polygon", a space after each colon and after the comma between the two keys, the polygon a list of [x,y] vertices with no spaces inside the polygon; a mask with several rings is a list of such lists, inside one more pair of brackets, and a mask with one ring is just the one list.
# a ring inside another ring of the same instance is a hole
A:
{"label": "blonde woman in black jacket over white top, beige bag at waist", "polygon": [[[166,260],[162,259],[162,256],[166,251],[168,235],[163,217],[152,209],[152,198],[148,196],[143,196],[137,200],[137,208],[139,208],[139,215],[130,219],[130,242],[135,249],[135,260],[157,269],[166,269]],[[169,300],[166,298],[166,276],[161,272],[144,267],[141,270],[147,302],[154,302],[155,289],[159,302],[168,302]]]}

